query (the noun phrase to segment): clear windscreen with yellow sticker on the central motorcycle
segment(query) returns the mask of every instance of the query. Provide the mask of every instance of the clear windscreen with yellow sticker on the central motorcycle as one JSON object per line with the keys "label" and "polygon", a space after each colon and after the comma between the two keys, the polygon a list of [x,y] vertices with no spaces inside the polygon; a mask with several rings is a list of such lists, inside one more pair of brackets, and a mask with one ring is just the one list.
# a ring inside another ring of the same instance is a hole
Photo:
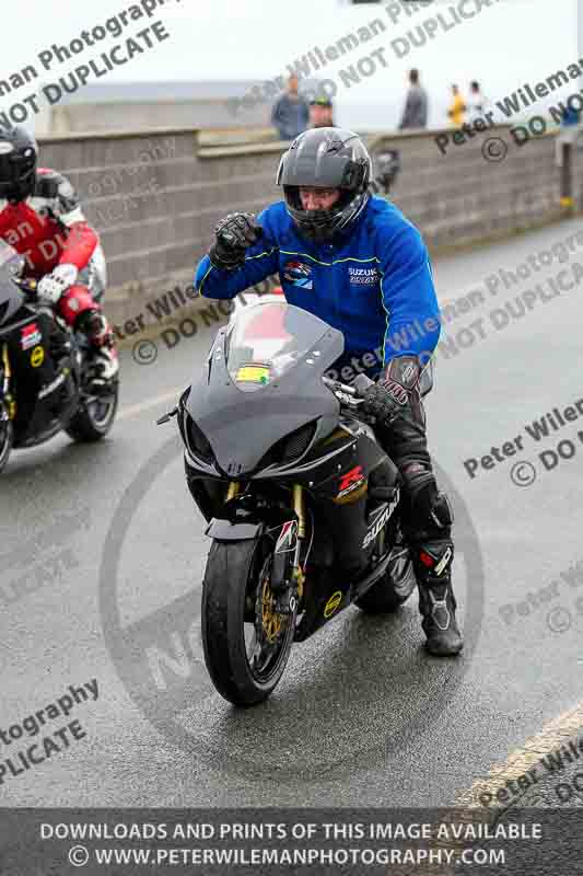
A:
{"label": "clear windscreen with yellow sticker on the central motorcycle", "polygon": [[225,358],[231,380],[243,392],[269,385],[294,368],[327,327],[317,318],[284,301],[247,308],[226,337]]}

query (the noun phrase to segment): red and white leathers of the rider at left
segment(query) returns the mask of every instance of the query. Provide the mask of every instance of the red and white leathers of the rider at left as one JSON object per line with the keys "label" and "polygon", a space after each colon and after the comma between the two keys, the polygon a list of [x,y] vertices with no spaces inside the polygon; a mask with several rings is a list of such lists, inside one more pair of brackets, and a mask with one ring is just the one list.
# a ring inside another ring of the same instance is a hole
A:
{"label": "red and white leathers of the rider at left", "polygon": [[65,284],[56,301],[57,312],[68,325],[84,332],[92,347],[102,350],[103,370],[113,376],[117,370],[113,333],[93,298],[105,288],[105,258],[98,234],[88,223],[71,183],[57,171],[38,169],[33,194],[3,204],[0,239],[24,256],[24,276],[40,280],[60,266],[77,268],[74,283]]}

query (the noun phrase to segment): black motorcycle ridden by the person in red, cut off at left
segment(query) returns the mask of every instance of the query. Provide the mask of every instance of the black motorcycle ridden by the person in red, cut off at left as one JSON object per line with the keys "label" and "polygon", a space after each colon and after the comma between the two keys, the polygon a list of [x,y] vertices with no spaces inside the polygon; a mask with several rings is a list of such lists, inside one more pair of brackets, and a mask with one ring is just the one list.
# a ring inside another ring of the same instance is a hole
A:
{"label": "black motorcycle ridden by the person in red, cut off at left", "polygon": [[0,241],[0,472],[11,450],[65,430],[97,441],[113,426],[117,379],[94,380],[85,338],[36,300],[24,260]]}

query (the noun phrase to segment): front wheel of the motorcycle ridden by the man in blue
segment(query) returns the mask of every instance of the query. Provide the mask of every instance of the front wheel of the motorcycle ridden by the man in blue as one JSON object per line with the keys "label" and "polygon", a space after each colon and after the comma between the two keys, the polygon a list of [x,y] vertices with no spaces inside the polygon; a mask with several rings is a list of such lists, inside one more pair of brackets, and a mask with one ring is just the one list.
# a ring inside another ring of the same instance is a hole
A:
{"label": "front wheel of the motorcycle ridden by the man in blue", "polygon": [[267,700],[288,664],[295,613],[273,611],[273,541],[213,542],[202,584],[202,646],[212,683],[225,700]]}

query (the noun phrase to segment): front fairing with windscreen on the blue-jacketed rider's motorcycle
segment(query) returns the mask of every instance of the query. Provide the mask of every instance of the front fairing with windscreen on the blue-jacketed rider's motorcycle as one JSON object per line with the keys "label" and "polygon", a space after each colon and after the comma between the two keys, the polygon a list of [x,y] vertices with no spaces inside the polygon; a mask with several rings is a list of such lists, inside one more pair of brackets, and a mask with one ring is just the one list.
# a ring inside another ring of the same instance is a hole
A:
{"label": "front fairing with windscreen on the blue-jacketed rider's motorcycle", "polygon": [[[266,495],[293,482],[310,491],[318,532],[329,527],[337,562],[362,568],[373,548],[373,539],[363,544],[372,525],[369,476],[390,489],[395,476],[370,428],[342,420],[323,381],[342,348],[340,332],[299,308],[249,307],[219,332],[203,377],[179,401],[178,423],[188,486],[208,521],[261,516],[249,494],[225,504],[225,480],[258,482]],[[221,529],[222,538],[231,532]]]}

